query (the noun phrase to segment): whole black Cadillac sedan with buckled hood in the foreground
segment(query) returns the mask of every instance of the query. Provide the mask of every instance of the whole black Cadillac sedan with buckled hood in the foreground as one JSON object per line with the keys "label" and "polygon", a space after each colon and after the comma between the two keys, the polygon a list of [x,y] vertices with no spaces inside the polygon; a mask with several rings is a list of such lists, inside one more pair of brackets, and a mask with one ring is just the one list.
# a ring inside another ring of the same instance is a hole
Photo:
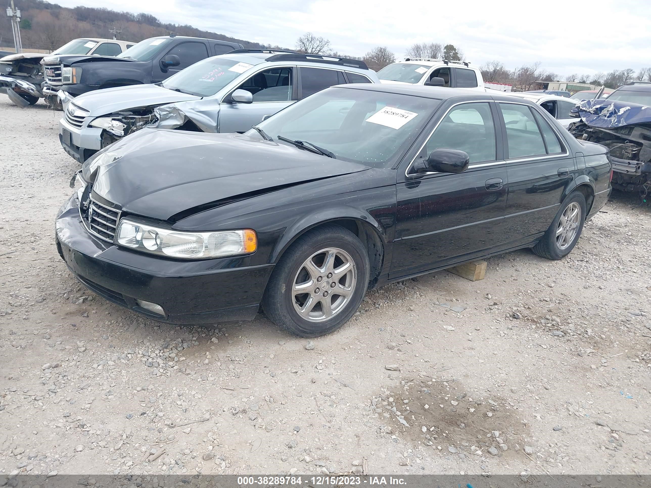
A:
{"label": "whole black Cadillac sedan with buckled hood in the foreground", "polygon": [[611,163],[534,103],[327,88],[244,134],[143,129],[89,159],[56,241],[90,290],[171,323],[341,327],[368,288],[530,247],[566,256]]}

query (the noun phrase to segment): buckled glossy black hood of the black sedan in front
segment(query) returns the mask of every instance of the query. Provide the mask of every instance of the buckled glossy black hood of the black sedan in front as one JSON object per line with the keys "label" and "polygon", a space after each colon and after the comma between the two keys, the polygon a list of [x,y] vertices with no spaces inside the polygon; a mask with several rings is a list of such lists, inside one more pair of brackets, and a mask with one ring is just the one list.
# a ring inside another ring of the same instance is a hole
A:
{"label": "buckled glossy black hood of the black sedan in front", "polygon": [[142,129],[86,161],[83,177],[124,211],[165,221],[220,200],[366,169],[246,135]]}

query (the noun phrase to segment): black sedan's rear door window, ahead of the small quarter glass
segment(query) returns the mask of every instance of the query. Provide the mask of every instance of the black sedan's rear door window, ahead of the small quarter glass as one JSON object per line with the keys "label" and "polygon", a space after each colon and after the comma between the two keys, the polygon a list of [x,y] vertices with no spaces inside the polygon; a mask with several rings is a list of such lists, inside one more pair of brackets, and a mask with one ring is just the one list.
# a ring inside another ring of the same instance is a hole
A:
{"label": "black sedan's rear door window, ahead of the small quarter glass", "polygon": [[527,105],[499,103],[499,108],[506,126],[509,159],[547,154],[538,123]]}

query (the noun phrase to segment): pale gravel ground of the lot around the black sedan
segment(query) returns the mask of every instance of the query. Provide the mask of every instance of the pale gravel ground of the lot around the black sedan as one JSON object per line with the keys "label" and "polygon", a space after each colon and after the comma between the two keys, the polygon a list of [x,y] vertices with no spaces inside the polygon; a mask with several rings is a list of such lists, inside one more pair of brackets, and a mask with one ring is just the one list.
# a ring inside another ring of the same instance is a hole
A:
{"label": "pale gravel ground of the lot around the black sedan", "polygon": [[[615,194],[561,262],[523,250],[368,293],[313,341],[173,327],[53,243],[78,165],[0,96],[0,472],[651,473],[651,207]],[[193,422],[193,423],[190,423]]]}

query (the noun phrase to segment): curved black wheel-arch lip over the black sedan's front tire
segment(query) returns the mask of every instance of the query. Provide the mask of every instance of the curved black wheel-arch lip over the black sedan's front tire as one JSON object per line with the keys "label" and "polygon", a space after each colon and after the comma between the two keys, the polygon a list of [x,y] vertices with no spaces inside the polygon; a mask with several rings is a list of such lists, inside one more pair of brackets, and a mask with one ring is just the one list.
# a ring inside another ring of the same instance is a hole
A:
{"label": "curved black wheel-arch lip over the black sedan's front tire", "polygon": [[386,247],[388,239],[385,230],[380,223],[370,215],[370,213],[365,210],[356,209],[352,206],[339,205],[309,213],[295,221],[285,230],[281,239],[277,241],[273,251],[271,251],[269,261],[271,263],[276,263],[280,256],[283,255],[283,252],[286,251],[286,249],[290,247],[299,236],[305,234],[308,230],[321,224],[343,219],[369,224],[375,230],[378,237],[380,237],[383,246]]}

